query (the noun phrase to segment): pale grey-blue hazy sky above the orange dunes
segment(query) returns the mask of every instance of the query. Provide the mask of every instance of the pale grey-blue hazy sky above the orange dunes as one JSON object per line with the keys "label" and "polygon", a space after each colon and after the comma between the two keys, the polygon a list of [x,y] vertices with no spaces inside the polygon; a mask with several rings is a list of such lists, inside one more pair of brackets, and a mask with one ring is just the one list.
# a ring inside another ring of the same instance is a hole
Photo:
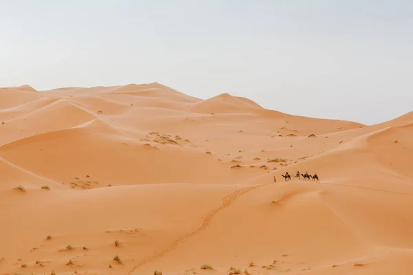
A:
{"label": "pale grey-blue hazy sky above the orange dunes", "polygon": [[158,82],[375,124],[413,111],[411,0],[0,0],[0,87]]}

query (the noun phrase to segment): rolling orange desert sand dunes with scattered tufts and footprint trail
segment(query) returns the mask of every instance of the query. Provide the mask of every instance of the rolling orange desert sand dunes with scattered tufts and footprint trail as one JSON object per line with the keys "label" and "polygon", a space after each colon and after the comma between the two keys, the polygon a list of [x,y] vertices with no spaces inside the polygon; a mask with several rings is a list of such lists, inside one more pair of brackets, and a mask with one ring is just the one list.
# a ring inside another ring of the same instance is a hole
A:
{"label": "rolling orange desert sand dunes with scattered tufts and footprint trail", "polygon": [[412,137],[413,112],[1,88],[0,274],[413,274]]}

